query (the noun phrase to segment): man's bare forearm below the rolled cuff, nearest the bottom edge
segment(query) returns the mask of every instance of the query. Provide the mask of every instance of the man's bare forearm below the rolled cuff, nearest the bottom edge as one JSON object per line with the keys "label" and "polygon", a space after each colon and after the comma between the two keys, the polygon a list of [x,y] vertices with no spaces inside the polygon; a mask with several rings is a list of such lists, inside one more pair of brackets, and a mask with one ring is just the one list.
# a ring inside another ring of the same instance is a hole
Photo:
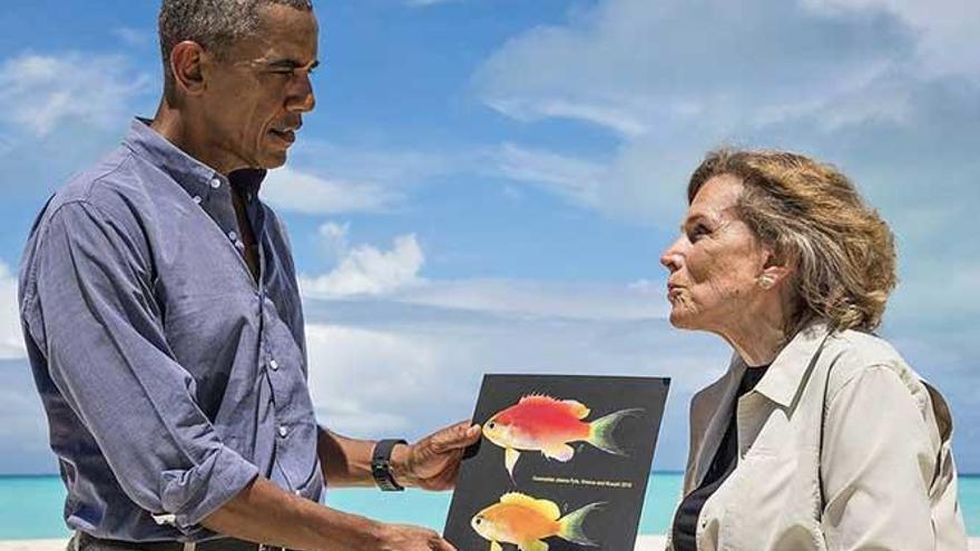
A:
{"label": "man's bare forearm below the rolled cuff, nearest the bottom edge", "polygon": [[302,551],[375,549],[382,524],[293,495],[257,478],[204,521],[233,538]]}

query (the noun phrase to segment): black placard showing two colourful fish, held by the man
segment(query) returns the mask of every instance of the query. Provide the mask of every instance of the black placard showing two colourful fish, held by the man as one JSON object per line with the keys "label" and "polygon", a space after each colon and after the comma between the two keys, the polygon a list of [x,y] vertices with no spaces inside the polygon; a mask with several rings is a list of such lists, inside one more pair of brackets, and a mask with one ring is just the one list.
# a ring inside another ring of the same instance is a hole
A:
{"label": "black placard showing two colourful fish, held by the man", "polygon": [[[548,551],[633,550],[669,384],[669,378],[656,377],[484,376],[473,414],[473,421],[482,425],[484,433],[467,451],[444,538],[461,551],[484,551],[493,541],[488,537],[492,528],[504,533],[497,541],[503,551],[518,549],[514,542],[507,541],[508,537],[530,540],[535,531],[543,531],[546,535],[537,541],[546,543]],[[575,440],[584,431],[576,425],[576,414],[582,414],[585,409],[589,411],[581,423],[595,423],[610,414],[606,419],[616,420],[599,445],[588,437]],[[488,424],[501,420],[498,414],[507,410],[509,420],[494,423],[497,432],[490,433],[497,440],[494,443],[488,436]],[[568,419],[569,414],[572,419]],[[568,454],[568,450],[556,445],[556,441],[565,437],[571,440],[568,445],[574,451],[568,461],[550,459],[536,449],[549,447],[553,456]],[[602,443],[607,450],[601,449]],[[526,449],[519,451],[512,479],[506,469],[507,446]],[[601,503],[580,516],[584,520],[578,534],[597,545],[551,534],[555,523],[547,522],[549,508],[514,495],[501,503],[501,498],[510,492],[550,501],[557,505],[559,522],[581,508]],[[481,512],[484,514],[478,525],[484,530],[482,535],[473,525]],[[522,518],[522,525],[512,522],[516,515]],[[535,545],[527,547],[526,542],[526,549],[543,549]]]}

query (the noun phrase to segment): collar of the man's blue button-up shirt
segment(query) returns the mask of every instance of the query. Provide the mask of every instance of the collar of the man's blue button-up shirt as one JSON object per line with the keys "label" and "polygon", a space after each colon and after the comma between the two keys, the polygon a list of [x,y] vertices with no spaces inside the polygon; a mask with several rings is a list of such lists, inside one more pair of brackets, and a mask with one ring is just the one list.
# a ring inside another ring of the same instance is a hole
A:
{"label": "collar of the man's blue button-up shirt", "polygon": [[136,117],[122,144],[170,176],[192,197],[208,197],[216,189],[227,188],[229,184],[249,198],[258,195],[262,180],[265,179],[265,169],[244,168],[233,171],[226,178],[214,168],[184,152],[149,125],[149,119]]}

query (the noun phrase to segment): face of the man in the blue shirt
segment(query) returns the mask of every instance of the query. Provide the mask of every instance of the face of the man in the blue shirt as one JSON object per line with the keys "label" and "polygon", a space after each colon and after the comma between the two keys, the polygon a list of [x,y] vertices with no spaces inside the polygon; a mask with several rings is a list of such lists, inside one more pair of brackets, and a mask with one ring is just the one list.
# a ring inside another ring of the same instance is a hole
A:
{"label": "face of the man in the blue shirt", "polygon": [[317,65],[318,29],[312,11],[281,4],[259,8],[254,37],[212,58],[203,116],[206,142],[235,168],[275,168],[315,105],[310,71]]}

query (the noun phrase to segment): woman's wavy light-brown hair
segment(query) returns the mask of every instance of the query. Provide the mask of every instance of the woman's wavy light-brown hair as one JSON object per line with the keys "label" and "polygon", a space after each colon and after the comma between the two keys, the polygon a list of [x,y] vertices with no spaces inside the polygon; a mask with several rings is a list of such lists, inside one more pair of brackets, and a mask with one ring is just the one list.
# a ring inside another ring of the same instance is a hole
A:
{"label": "woman's wavy light-brown hair", "polygon": [[[741,218],[777,258],[795,266],[788,331],[814,316],[834,329],[873,331],[895,287],[894,236],[831,165],[778,150],[723,148],[690,176],[688,203],[715,176],[739,178]],[[792,334],[792,333],[790,333]]]}

